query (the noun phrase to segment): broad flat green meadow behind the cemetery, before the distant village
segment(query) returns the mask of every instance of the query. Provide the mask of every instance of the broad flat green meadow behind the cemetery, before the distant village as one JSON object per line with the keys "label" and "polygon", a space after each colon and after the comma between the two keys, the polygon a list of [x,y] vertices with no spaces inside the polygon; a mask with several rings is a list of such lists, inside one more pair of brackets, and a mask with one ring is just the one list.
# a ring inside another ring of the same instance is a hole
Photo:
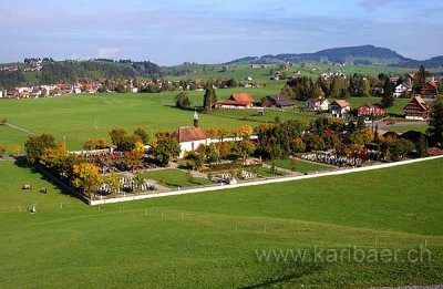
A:
{"label": "broad flat green meadow behind the cemetery, before the distant village", "polygon": [[[218,90],[223,100],[231,93],[248,91],[255,99],[275,92],[276,87]],[[277,89],[277,92],[279,89]],[[35,133],[51,133],[59,142],[65,136],[68,149],[80,149],[87,138],[107,137],[114,127],[134,131],[143,127],[148,133],[173,132],[178,126],[193,124],[193,111],[177,110],[174,100],[177,92],[157,94],[80,94],[55,99],[7,100],[0,102],[0,116],[9,123]],[[194,105],[200,106],[204,92],[188,92]],[[285,116],[282,116],[284,118]],[[274,120],[274,117],[271,117]],[[96,123],[96,126],[95,126]],[[240,117],[224,117],[217,114],[202,114],[203,128],[231,130],[244,124],[258,125],[257,122]],[[0,143],[12,146],[25,135],[19,131],[0,130]],[[23,140],[24,136],[24,140]]]}

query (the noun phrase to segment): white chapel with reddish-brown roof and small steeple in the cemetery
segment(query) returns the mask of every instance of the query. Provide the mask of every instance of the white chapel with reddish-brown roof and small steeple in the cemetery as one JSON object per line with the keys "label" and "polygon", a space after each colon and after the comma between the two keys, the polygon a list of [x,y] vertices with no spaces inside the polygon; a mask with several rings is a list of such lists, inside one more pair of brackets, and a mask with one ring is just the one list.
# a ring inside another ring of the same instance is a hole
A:
{"label": "white chapel with reddish-brown roof and small steeple in the cemetery", "polygon": [[202,145],[208,145],[210,142],[209,134],[198,126],[197,112],[194,113],[194,126],[178,127],[171,136],[178,142],[181,158],[184,157],[187,152],[195,152]]}

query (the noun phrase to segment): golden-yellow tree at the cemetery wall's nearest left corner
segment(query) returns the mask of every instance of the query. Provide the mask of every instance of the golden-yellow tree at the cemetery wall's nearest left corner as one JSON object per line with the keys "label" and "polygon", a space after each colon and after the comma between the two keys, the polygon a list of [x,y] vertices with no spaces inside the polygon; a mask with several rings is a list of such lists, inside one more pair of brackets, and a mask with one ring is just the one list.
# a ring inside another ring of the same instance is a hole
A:
{"label": "golden-yellow tree at the cemetery wall's nearest left corner", "polygon": [[90,199],[93,198],[93,194],[99,189],[101,183],[102,177],[96,165],[90,163],[74,165],[72,184],[74,187],[82,188]]}

